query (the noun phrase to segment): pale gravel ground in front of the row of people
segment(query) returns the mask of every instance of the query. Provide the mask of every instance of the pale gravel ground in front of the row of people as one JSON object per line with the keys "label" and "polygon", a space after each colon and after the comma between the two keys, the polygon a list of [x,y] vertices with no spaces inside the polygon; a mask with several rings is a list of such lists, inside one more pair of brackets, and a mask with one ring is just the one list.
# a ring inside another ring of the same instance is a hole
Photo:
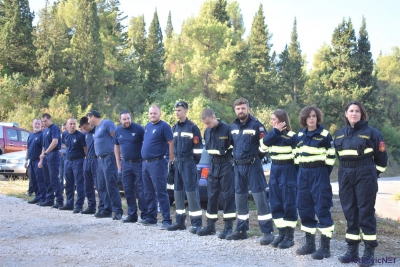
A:
{"label": "pale gravel ground in front of the row of people", "polygon": [[337,257],[346,249],[333,240],[331,258],[317,261],[295,255],[304,242],[298,231],[295,246],[280,250],[259,245],[260,237],[226,241],[168,232],[4,195],[0,203],[0,266],[340,266]]}

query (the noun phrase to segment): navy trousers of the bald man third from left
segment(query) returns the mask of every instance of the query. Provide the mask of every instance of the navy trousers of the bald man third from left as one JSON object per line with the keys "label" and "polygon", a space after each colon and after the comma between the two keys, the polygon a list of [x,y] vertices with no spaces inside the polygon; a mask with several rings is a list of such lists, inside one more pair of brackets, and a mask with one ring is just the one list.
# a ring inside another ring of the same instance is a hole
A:
{"label": "navy trousers of the bald man third from left", "polygon": [[65,206],[74,207],[75,186],[77,199],[75,203],[76,209],[82,209],[85,201],[85,185],[83,180],[83,160],[84,158],[64,161],[65,174],[65,193],[67,201]]}

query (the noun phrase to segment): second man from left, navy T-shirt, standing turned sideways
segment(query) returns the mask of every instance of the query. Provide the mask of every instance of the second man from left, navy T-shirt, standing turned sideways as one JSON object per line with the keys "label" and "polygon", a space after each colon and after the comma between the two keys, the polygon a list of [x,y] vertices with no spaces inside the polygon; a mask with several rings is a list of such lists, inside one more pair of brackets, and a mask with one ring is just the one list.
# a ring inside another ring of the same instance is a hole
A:
{"label": "second man from left, navy T-shirt, standing turned sideways", "polygon": [[[42,124],[45,125],[42,139],[42,154],[39,167],[43,166],[43,177],[46,184],[46,200],[40,206],[60,208],[64,204],[62,186],[59,179],[61,136],[60,128],[53,124],[50,114],[42,115]],[[54,199],[56,198],[56,203]]]}

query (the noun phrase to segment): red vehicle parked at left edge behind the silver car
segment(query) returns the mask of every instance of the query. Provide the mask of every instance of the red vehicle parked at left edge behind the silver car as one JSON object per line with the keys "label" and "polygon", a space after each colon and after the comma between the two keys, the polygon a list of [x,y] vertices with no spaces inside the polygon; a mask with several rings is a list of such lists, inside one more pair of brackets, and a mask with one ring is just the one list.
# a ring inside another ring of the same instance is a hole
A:
{"label": "red vehicle parked at left edge behind the silver car", "polygon": [[15,122],[0,122],[0,155],[26,150],[30,132]]}

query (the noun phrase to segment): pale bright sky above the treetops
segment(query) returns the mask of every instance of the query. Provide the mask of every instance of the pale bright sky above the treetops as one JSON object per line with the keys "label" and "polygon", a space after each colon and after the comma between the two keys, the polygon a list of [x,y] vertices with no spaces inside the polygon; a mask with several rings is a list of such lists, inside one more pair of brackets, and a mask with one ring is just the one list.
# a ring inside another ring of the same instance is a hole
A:
{"label": "pale bright sky above the treetops", "polygon": [[[197,16],[203,0],[120,0],[121,11],[128,18],[144,15],[147,27],[157,9],[161,29],[167,25],[168,12],[172,13],[172,24],[175,31],[180,32],[181,24],[191,15]],[[342,19],[350,17],[356,31],[361,27],[362,16],[365,16],[369,38],[372,43],[371,52],[376,60],[380,51],[391,53],[391,48],[400,44],[400,35],[393,29],[400,28],[397,0],[238,0],[243,14],[245,35],[250,33],[251,23],[258,10],[259,4],[264,7],[265,22],[273,35],[272,50],[281,53],[290,36],[294,18],[297,18],[298,39],[302,53],[307,55],[307,66],[312,67],[313,55],[324,44],[329,44],[333,30]],[[44,7],[45,0],[30,0],[30,8],[38,11]],[[129,19],[124,23],[128,25]]]}

